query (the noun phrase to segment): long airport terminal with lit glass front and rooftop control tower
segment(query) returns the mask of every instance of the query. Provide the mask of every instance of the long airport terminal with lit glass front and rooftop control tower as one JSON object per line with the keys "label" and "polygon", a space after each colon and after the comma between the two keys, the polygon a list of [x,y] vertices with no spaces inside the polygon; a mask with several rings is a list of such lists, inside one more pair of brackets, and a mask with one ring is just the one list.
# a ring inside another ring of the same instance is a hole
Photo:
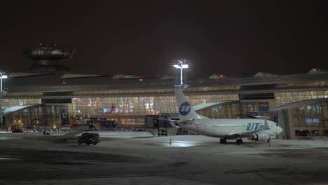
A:
{"label": "long airport terminal with lit glass front and rooftop control tower", "polygon": [[[15,121],[29,126],[60,128],[85,125],[90,118],[116,121],[118,128],[143,128],[146,115],[177,115],[174,86],[179,78],[147,78],[122,74],[76,74],[54,62],[69,59],[69,48],[31,48],[27,59],[36,64],[27,72],[6,72],[2,107],[5,128]],[[44,56],[48,52],[48,58]],[[49,53],[50,52],[50,53]],[[61,53],[62,52],[62,53]],[[66,52],[66,53],[65,53]],[[23,52],[24,53],[24,52]],[[46,62],[45,62],[46,61]],[[50,62],[47,62],[50,61]],[[328,73],[186,79],[184,90],[198,113],[210,118],[271,116],[285,139],[328,135]]]}

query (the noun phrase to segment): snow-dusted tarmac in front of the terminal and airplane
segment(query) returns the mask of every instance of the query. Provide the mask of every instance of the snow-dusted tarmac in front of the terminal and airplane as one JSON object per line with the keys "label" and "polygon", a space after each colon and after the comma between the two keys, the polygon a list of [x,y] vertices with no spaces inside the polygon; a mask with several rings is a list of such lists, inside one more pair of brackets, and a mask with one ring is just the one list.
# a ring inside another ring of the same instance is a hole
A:
{"label": "snow-dusted tarmac in front of the terminal and airplane", "polygon": [[54,137],[0,133],[0,184],[328,184],[325,139],[100,132],[100,144],[79,146]]}

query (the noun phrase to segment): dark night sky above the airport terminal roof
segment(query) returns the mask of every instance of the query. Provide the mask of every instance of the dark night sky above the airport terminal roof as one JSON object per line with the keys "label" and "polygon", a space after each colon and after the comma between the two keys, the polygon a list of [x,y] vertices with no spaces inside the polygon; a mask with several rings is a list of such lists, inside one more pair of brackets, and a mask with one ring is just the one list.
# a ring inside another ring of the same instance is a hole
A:
{"label": "dark night sky above the airport terminal roof", "polygon": [[[65,65],[102,74],[188,78],[328,69],[325,1],[1,1],[0,68],[27,71],[22,48],[76,47]],[[177,76],[178,77],[178,76]]]}

